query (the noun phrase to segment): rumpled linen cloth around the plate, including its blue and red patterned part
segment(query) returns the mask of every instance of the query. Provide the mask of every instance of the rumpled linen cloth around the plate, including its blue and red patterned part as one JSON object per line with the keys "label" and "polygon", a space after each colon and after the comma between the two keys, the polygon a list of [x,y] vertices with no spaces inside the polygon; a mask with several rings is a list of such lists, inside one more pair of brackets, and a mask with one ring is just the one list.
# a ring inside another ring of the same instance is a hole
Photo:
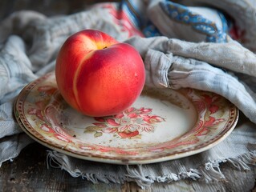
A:
{"label": "rumpled linen cloth around the plate, including its blue and red patterned part", "polygon": [[[112,2],[52,18],[34,11],[20,11],[3,20],[0,25],[0,163],[17,157],[33,142],[14,120],[13,104],[20,90],[55,69],[56,55],[68,36],[79,30],[96,29],[120,42],[128,42],[140,52],[148,86],[191,87],[221,94],[238,106],[246,119],[217,146],[187,158],[116,166],[49,150],[49,165],[57,165],[72,176],[91,182],[134,181],[141,187],[184,178],[221,181],[225,179],[220,169],[223,162],[229,163],[230,169],[254,170],[256,45],[252,42],[256,38],[256,22],[250,16],[255,15],[255,2],[215,1],[223,5],[217,8],[231,7],[226,9],[234,17],[230,23],[220,10],[207,7],[207,3],[215,5],[213,2],[205,1],[204,7],[185,6],[189,1],[182,2],[183,5],[158,0]],[[242,17],[236,17],[238,14]]]}

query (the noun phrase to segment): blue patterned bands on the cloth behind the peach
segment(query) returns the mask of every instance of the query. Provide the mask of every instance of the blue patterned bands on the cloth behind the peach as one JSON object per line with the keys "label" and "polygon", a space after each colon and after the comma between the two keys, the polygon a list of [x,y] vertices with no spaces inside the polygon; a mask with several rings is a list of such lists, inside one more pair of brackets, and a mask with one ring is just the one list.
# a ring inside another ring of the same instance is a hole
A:
{"label": "blue patterned bands on the cloth behind the peach", "polygon": [[[177,24],[191,26],[195,33],[205,34],[205,42],[226,42],[228,23],[225,16],[217,10],[217,14],[221,19],[221,26],[201,14],[195,13],[187,6],[183,6],[171,1],[159,2],[163,12]],[[122,9],[130,18],[133,25],[141,30],[145,37],[161,36],[160,30],[148,18],[144,18],[141,6],[144,2],[136,0],[123,0],[120,3]],[[168,23],[167,23],[168,25]]]}

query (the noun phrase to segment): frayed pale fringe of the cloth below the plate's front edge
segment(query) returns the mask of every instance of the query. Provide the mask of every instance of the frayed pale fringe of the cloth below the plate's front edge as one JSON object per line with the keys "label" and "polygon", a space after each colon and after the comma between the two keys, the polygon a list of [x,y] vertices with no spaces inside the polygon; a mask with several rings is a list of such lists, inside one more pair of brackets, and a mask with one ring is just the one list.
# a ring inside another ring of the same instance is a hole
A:
{"label": "frayed pale fringe of the cloth below the plate's front edge", "polygon": [[[84,173],[83,167],[72,169],[70,158],[66,154],[61,154],[55,150],[47,151],[47,167],[60,168],[66,170],[72,177],[87,179],[87,181],[98,182],[136,182],[142,189],[148,188],[154,182],[176,182],[184,178],[191,178],[193,180],[202,179],[205,182],[219,182],[226,179],[225,175],[221,172],[220,164],[223,162],[230,163],[238,170],[251,170],[250,166],[256,165],[256,150],[249,151],[246,154],[242,154],[237,158],[226,158],[217,161],[206,162],[204,166],[200,166],[197,169],[189,169],[181,173],[169,173],[164,175],[145,175],[144,165],[136,166],[122,166],[124,170],[124,176],[112,174],[100,174],[100,173]],[[105,165],[108,166],[108,165]]]}

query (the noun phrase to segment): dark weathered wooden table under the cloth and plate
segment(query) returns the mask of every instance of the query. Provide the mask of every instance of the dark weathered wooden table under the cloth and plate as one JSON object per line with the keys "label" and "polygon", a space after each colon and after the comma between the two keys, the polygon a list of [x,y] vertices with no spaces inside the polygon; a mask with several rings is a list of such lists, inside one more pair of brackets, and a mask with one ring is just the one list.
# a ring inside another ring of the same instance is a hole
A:
{"label": "dark weathered wooden table under the cloth and plate", "polygon": [[[124,184],[100,182],[93,184],[83,178],[73,178],[65,170],[47,167],[47,147],[39,143],[26,146],[13,162],[4,162],[0,168],[0,191],[252,191],[255,185],[254,171],[230,170],[221,166],[226,181],[205,184],[192,179],[180,182],[155,183],[150,189],[142,190],[135,182]],[[246,178],[246,179],[241,179]],[[254,189],[254,192],[256,190]]]}

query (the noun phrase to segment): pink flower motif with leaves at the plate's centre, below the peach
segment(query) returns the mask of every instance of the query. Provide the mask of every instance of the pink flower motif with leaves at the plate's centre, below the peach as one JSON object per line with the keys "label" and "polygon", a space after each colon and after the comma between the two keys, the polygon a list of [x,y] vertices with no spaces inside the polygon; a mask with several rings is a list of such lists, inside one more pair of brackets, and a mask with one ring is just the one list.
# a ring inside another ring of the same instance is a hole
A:
{"label": "pink flower motif with leaves at the plate's centre, below the peach", "polygon": [[112,117],[95,118],[93,126],[87,126],[84,133],[94,133],[95,137],[102,134],[117,134],[120,138],[134,138],[140,132],[154,132],[155,124],[165,121],[157,115],[152,115],[152,109],[130,107],[123,113]]}

